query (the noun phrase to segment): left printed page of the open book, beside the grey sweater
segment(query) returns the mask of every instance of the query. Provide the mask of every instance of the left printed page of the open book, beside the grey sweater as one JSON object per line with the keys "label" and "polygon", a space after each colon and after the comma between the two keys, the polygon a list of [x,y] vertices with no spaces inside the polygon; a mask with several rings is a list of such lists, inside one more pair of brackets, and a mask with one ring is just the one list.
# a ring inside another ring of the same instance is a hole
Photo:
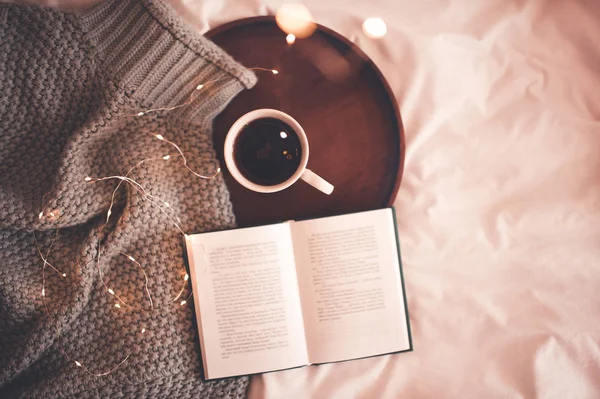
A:
{"label": "left printed page of the open book, beside the grey sweater", "polygon": [[207,379],[308,364],[289,224],[188,236]]}

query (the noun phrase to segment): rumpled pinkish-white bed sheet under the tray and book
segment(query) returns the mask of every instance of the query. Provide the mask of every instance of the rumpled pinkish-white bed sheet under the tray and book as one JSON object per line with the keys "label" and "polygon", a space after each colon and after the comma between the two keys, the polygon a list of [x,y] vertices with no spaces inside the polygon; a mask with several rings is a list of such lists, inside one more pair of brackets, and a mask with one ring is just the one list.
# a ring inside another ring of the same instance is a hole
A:
{"label": "rumpled pinkish-white bed sheet under the tray and book", "polygon": [[[282,4],[171,2],[201,32]],[[414,352],[254,377],[251,398],[600,398],[600,2],[303,3],[400,104]]]}

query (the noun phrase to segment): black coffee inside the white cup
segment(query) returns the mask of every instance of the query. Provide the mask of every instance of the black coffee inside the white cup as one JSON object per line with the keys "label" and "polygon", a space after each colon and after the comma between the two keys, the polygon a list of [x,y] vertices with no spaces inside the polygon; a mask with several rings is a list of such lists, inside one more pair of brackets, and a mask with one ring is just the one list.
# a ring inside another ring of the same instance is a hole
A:
{"label": "black coffee inside the white cup", "polygon": [[298,170],[302,146],[288,124],[275,118],[260,118],[242,128],[234,143],[233,156],[246,179],[274,186]]}

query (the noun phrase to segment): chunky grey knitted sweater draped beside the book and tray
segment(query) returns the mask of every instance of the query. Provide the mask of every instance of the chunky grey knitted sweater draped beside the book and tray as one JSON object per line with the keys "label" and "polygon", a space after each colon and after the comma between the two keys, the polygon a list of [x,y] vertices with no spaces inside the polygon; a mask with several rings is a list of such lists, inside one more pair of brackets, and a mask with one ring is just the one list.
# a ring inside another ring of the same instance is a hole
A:
{"label": "chunky grey knitted sweater draped beside the book and tray", "polygon": [[[127,116],[185,102],[209,80],[190,106]],[[0,397],[245,396],[247,379],[202,382],[193,301],[169,304],[186,273],[182,234],[126,184],[103,228],[117,182],[83,179],[171,154],[132,177],[169,202],[184,231],[232,227],[223,180],[195,177],[155,135],[213,173],[213,118],[255,80],[158,2],[109,0],[81,14],[0,5]],[[39,219],[46,193],[54,217]],[[48,262],[66,277],[46,270],[48,318],[32,233],[45,254],[57,228]],[[129,303],[148,305],[143,274],[120,252],[143,265],[158,309],[114,306],[99,272]],[[102,373],[130,352],[103,377],[73,361]]]}

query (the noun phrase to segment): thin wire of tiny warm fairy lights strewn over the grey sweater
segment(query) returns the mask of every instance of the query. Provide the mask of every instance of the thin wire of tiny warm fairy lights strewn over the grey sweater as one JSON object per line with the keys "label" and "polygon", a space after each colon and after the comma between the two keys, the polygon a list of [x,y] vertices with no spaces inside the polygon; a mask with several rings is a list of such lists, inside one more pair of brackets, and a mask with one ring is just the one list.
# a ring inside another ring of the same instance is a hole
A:
{"label": "thin wire of tiny warm fairy lights strewn over the grey sweater", "polygon": [[[295,38],[294,38],[294,40],[295,40]],[[252,68],[249,68],[249,69],[255,70],[255,71],[266,71],[266,72],[270,72],[273,75],[279,74],[279,71],[276,70],[276,69],[267,69],[267,68],[261,68],[261,67],[252,67]],[[173,106],[173,107],[161,107],[161,108],[154,108],[154,109],[143,110],[143,111],[137,112],[134,115],[127,115],[127,116],[130,116],[130,117],[131,116],[141,117],[141,116],[144,116],[144,115],[152,113],[152,112],[171,111],[171,110],[174,110],[174,109],[177,109],[177,108],[184,107],[186,105],[190,105],[195,100],[194,95],[195,95],[195,93],[197,91],[203,89],[204,87],[206,87],[206,85],[209,85],[209,84],[212,84],[212,83],[218,82],[220,80],[224,80],[224,79],[229,79],[229,78],[215,79],[215,80],[212,80],[212,81],[208,81],[208,82],[204,82],[204,83],[196,85],[196,90],[194,90],[192,92],[192,94],[190,95],[189,100],[187,102],[183,103],[183,104],[179,104],[179,105],[176,105],[176,106]],[[194,171],[193,169],[191,169],[188,166],[187,159],[186,159],[183,151],[181,150],[181,148],[179,148],[179,146],[176,143],[174,143],[174,142],[172,142],[170,140],[165,139],[160,134],[156,134],[155,137],[158,140],[164,141],[165,143],[167,143],[167,144],[171,145],[173,148],[175,148],[177,150],[177,152],[178,152],[178,155],[183,160],[183,166],[186,169],[188,169],[188,171],[191,172],[192,174],[194,174],[195,176],[197,176],[199,178],[202,178],[202,179],[209,179],[210,180],[210,179],[215,179],[218,176],[218,174],[220,173],[221,169],[218,168],[218,167],[216,168],[216,172],[213,173],[212,175],[206,176],[206,175],[202,175],[202,174],[197,173],[196,171]],[[167,155],[162,156],[159,159],[167,161],[167,160],[171,159],[171,155],[167,154]],[[122,183],[126,183],[131,188],[133,188],[134,191],[140,193],[144,199],[146,199],[147,201],[149,201],[153,205],[156,205],[159,208],[159,210],[163,214],[165,214],[167,216],[167,218],[171,221],[171,223],[173,223],[173,225],[185,236],[185,238],[188,239],[189,235],[186,234],[181,229],[181,227],[179,225],[181,223],[181,221],[180,221],[179,217],[177,216],[177,213],[175,212],[175,210],[169,204],[169,202],[163,201],[160,198],[152,195],[142,184],[140,184],[139,182],[135,181],[134,179],[132,179],[130,177],[130,175],[133,172],[133,170],[135,170],[136,168],[138,168],[139,166],[141,166],[142,164],[144,164],[146,162],[154,161],[154,160],[156,160],[156,158],[144,159],[144,160],[138,162],[124,176],[106,176],[106,177],[100,177],[100,178],[93,178],[91,176],[86,176],[86,177],[84,177],[83,180],[84,180],[84,182],[86,184],[97,183],[97,182],[108,181],[108,180],[118,180],[118,184],[115,187],[115,189],[113,190],[113,193],[111,195],[110,206],[109,206],[108,210],[106,211],[106,222],[105,222],[104,226],[106,226],[108,224],[108,222],[110,220],[110,217],[112,216],[112,208],[114,206],[116,192],[118,191],[118,189],[120,188],[120,186],[122,185]],[[48,192],[48,193],[46,193],[46,194],[44,194],[42,196],[42,210],[38,214],[38,219],[40,219],[40,220],[42,220],[44,218],[45,209],[48,206],[48,203],[46,203],[45,199],[46,199],[46,196],[49,195],[49,194],[50,194],[50,192]],[[169,212],[167,212],[167,210]],[[55,210],[52,210],[51,212],[48,212],[46,215],[47,215],[47,219],[48,220],[56,220],[59,217],[60,212],[55,209]],[[57,322],[56,319],[54,319],[51,316],[50,311],[48,309],[47,302],[45,300],[46,297],[47,297],[47,295],[46,295],[47,294],[47,292],[46,292],[46,268],[50,267],[52,270],[54,270],[56,273],[58,273],[63,278],[67,276],[66,273],[61,272],[60,270],[58,270],[56,267],[54,267],[52,264],[50,264],[48,262],[48,258],[50,256],[51,250],[52,250],[52,248],[53,248],[53,246],[54,246],[54,244],[55,244],[55,242],[57,240],[58,232],[59,232],[59,229],[57,228],[56,232],[55,232],[55,234],[54,234],[54,236],[53,236],[53,238],[52,238],[52,240],[50,242],[50,245],[48,246],[48,249],[46,251],[45,256],[42,253],[41,246],[40,246],[40,244],[38,242],[38,239],[37,239],[37,236],[36,236],[35,232],[33,232],[33,237],[34,237],[34,241],[35,241],[35,245],[36,245],[38,254],[39,254],[40,258],[43,261],[43,265],[42,265],[42,290],[41,290],[42,304],[43,304],[44,310],[46,312],[46,315],[48,316],[48,318],[50,320],[53,320],[53,322],[55,323],[55,327],[57,329],[57,332],[60,334],[60,328],[59,328],[58,322]],[[121,298],[115,292],[115,290],[113,290],[111,287],[109,287],[106,284],[106,282],[104,281],[103,273],[102,273],[102,271],[100,269],[100,266],[99,266],[100,255],[101,255],[101,244],[100,244],[100,242],[98,242],[98,247],[97,247],[97,250],[96,250],[96,256],[94,258],[90,259],[86,263],[86,265],[89,264],[89,262],[95,261],[96,268],[97,268],[98,275],[100,277],[101,283],[104,285],[104,287],[106,288],[107,292],[111,296],[114,296],[117,299],[117,301],[118,301],[118,302],[114,303],[114,307],[115,308],[122,309],[123,307],[125,307],[125,308],[136,309],[136,310],[144,310],[144,311],[155,311],[155,310],[159,309],[160,307],[155,306],[154,302],[152,301],[152,296],[151,296],[150,290],[148,288],[148,284],[149,284],[148,275],[146,274],[146,271],[144,270],[144,268],[142,267],[142,265],[133,256],[125,254],[125,253],[122,253],[122,252],[120,254],[123,255],[123,256],[125,256],[125,257],[127,257],[127,259],[129,261],[131,261],[132,263],[134,263],[141,270],[141,272],[143,273],[144,280],[145,280],[144,289],[146,291],[146,296],[147,296],[148,301],[150,303],[150,308],[143,308],[143,307],[138,307],[138,306],[133,306],[133,305],[128,304],[126,301],[123,300],[123,298]],[[179,300],[179,298],[181,298],[181,295],[185,291],[186,287],[189,285],[188,281],[189,281],[189,275],[187,273],[185,273],[185,275],[183,277],[183,285],[182,285],[181,289],[179,290],[178,294],[175,296],[175,298],[173,300],[169,301],[170,303],[175,302],[175,301]],[[180,306],[185,305],[189,301],[189,299],[192,297],[192,295],[193,295],[193,291],[190,289],[190,292],[189,292],[187,298],[181,300],[179,302],[179,305]],[[140,331],[140,334],[143,335],[146,332],[146,328],[142,327],[141,330],[139,330],[139,331]],[[105,376],[105,375],[111,374],[112,372],[114,372],[115,370],[117,370],[119,367],[121,367],[130,358],[130,356],[132,354],[132,352],[129,352],[114,367],[112,367],[111,369],[109,369],[107,371],[98,373],[98,372],[94,372],[91,369],[89,369],[88,367],[84,366],[79,360],[76,360],[73,357],[71,357],[63,349],[63,347],[60,345],[60,342],[58,342],[58,350],[62,353],[62,355],[67,360],[74,362],[77,367],[81,368],[87,374],[92,375],[92,376],[96,376],[96,377],[101,377],[101,376]]]}

